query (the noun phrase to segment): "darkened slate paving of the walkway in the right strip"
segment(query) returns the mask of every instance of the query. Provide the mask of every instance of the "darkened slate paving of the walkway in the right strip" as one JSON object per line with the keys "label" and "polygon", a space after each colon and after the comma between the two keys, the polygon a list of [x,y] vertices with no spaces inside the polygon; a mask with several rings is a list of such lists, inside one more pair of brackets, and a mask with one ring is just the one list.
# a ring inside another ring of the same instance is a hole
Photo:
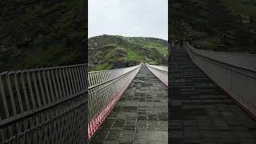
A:
{"label": "darkened slate paving of the walkway in the right strip", "polygon": [[169,59],[169,143],[256,144],[254,119],[176,47]]}

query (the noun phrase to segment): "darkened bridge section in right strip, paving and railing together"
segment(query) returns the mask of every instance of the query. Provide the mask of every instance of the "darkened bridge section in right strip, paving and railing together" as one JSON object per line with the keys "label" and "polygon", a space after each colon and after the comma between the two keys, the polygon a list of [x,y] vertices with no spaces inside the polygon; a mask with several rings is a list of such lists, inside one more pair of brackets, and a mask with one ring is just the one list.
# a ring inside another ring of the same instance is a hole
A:
{"label": "darkened bridge section in right strip, paving and railing together", "polygon": [[256,143],[255,55],[173,43],[169,83],[170,143]]}

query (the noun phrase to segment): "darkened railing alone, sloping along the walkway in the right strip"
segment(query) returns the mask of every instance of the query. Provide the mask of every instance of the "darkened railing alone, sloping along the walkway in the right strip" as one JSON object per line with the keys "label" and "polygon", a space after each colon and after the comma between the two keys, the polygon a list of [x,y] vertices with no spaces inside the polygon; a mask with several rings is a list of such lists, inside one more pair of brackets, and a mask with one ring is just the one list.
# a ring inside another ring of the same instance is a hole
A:
{"label": "darkened railing alone, sloping along the walkway in the right strip", "polygon": [[197,50],[188,43],[186,50],[218,86],[256,116],[256,55]]}

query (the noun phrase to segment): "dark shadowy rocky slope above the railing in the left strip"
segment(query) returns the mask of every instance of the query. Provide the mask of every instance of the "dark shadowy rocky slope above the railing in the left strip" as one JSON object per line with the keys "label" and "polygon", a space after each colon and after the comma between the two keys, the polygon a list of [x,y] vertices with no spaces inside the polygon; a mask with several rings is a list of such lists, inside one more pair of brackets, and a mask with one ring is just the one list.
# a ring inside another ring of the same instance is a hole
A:
{"label": "dark shadowy rocky slope above the railing in the left strip", "polygon": [[0,72],[86,62],[85,6],[83,0],[2,0]]}

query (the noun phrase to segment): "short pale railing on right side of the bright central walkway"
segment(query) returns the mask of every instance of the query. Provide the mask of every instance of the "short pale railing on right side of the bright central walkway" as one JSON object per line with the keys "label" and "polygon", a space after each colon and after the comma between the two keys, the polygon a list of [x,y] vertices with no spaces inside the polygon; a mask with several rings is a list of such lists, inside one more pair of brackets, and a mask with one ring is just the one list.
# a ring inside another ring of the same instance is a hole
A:
{"label": "short pale railing on right side of the bright central walkway", "polygon": [[168,86],[168,66],[155,66],[146,63],[146,67],[162,81],[166,86]]}

